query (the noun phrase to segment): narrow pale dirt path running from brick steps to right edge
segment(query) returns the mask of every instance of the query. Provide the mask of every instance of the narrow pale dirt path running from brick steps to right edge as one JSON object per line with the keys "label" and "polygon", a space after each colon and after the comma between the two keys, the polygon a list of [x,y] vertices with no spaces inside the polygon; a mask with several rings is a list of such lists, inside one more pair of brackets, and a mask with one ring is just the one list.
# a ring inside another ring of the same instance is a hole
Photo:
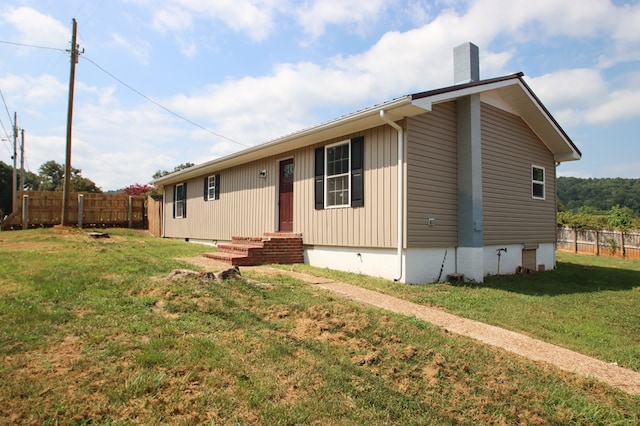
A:
{"label": "narrow pale dirt path running from brick steps to right edge", "polygon": [[629,394],[640,395],[639,372],[619,367],[616,364],[606,363],[523,334],[461,318],[438,308],[419,305],[327,278],[265,266],[253,266],[243,269],[254,270],[267,275],[287,274],[356,302],[403,315],[415,316],[442,327],[451,333],[479,340],[534,361],[546,362],[562,370],[594,377]]}

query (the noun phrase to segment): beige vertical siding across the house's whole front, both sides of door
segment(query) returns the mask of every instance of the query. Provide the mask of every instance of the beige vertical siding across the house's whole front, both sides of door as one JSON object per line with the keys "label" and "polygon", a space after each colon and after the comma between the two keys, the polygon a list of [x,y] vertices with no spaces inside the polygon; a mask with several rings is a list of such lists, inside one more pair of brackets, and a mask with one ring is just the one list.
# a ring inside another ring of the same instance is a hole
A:
{"label": "beige vertical siding across the house's whole front, both sides of door", "polygon": [[[315,210],[314,149],[365,137],[365,205]],[[187,182],[187,217],[174,219],[173,185],[166,188],[165,236],[229,240],[277,230],[279,161],[294,159],[293,231],[305,244],[395,247],[397,243],[397,136],[389,126],[345,135],[276,157],[221,170],[220,199],[204,201],[204,176]],[[267,170],[267,177],[258,177]],[[213,174],[213,173],[212,173]]]}

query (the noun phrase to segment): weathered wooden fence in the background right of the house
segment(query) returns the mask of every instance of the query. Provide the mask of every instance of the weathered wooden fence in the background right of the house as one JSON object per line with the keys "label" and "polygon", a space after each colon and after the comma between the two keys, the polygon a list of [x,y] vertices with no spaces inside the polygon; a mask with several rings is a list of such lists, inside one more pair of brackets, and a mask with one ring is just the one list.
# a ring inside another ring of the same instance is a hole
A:
{"label": "weathered wooden fence in the background right of the house", "polygon": [[592,231],[558,228],[558,250],[640,259],[640,231]]}

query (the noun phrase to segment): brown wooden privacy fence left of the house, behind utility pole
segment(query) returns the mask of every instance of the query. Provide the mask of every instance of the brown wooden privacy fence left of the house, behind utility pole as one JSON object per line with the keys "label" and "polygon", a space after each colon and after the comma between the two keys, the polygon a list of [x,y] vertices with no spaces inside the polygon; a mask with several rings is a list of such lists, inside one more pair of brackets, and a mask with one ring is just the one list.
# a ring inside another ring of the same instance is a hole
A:
{"label": "brown wooden privacy fence left of the house, behind utility pole", "polygon": [[[4,229],[54,226],[62,222],[62,192],[18,191],[17,214]],[[69,223],[78,227],[144,228],[144,197],[108,194],[69,194]]]}

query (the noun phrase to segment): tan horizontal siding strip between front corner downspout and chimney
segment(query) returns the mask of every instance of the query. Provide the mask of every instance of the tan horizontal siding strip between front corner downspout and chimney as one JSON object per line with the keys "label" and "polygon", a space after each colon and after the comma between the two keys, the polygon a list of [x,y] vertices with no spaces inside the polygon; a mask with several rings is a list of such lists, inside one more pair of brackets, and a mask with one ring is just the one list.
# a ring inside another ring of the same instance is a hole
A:
{"label": "tan horizontal siding strip between front corner downspout and chimney", "polygon": [[[458,242],[456,104],[408,120],[407,246],[450,247]],[[435,226],[429,226],[435,218]]]}

